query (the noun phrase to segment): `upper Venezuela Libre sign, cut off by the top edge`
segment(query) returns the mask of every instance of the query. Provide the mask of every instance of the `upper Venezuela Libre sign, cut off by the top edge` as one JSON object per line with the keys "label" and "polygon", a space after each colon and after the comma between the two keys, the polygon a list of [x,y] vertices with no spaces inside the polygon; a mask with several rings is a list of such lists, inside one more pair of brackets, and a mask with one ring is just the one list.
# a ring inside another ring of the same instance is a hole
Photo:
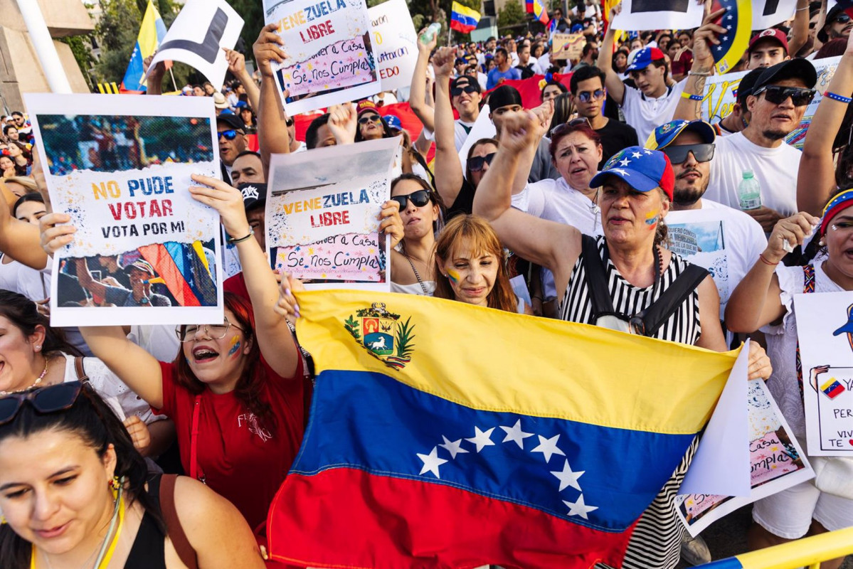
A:
{"label": "upper Venezuela Libre sign, cut off by the top edge", "polygon": [[273,64],[287,114],[382,90],[364,0],[264,0],[264,20],[278,25],[287,53]]}

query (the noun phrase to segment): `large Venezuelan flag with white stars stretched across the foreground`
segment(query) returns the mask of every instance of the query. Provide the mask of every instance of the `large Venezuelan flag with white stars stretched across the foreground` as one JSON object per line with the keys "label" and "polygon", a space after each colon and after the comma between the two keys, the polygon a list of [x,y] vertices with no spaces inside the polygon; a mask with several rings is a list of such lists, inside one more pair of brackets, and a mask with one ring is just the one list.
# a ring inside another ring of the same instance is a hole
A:
{"label": "large Venezuelan flag with white stars stretched across the foreground", "polygon": [[299,294],[310,423],[276,560],[620,566],[734,352],[403,294]]}

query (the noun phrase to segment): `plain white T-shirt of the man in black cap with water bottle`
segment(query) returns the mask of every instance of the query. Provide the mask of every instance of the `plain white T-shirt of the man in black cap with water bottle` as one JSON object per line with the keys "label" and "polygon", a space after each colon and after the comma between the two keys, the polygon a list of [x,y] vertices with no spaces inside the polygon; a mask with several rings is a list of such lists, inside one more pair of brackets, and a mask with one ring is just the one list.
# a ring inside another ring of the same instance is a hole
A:
{"label": "plain white T-shirt of the man in black cap with water bottle", "polygon": [[711,183],[705,199],[740,209],[738,185],[743,172],[751,170],[761,185],[761,203],[782,216],[797,212],[797,174],[802,153],[782,142],[764,148],[750,142],[743,131],[717,138],[711,160]]}

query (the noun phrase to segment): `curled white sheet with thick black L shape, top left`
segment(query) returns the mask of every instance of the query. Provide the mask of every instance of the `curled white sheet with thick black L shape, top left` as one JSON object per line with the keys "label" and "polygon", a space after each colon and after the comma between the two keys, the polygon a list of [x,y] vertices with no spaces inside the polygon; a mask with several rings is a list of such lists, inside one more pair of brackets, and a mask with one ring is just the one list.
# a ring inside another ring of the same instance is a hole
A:
{"label": "curled white sheet with thick black L shape, top left", "polygon": [[171,23],[148,71],[160,61],[183,61],[219,88],[228,73],[223,48],[234,49],[242,29],[243,19],[225,0],[189,0]]}

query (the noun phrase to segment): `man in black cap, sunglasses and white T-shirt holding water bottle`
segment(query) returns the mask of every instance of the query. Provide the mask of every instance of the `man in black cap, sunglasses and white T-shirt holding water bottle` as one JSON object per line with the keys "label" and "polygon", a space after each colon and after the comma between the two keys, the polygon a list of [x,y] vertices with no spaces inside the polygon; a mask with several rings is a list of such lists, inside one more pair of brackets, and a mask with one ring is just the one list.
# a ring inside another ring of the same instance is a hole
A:
{"label": "man in black cap, sunglasses and white T-shirt holding water bottle", "polygon": [[785,137],[803,119],[815,96],[817,73],[810,61],[793,59],[767,67],[746,97],[751,122],[743,131],[717,140],[711,183],[705,197],[739,207],[738,185],[751,171],[761,186],[762,206],[748,210],[766,233],[796,213],[800,151]]}

